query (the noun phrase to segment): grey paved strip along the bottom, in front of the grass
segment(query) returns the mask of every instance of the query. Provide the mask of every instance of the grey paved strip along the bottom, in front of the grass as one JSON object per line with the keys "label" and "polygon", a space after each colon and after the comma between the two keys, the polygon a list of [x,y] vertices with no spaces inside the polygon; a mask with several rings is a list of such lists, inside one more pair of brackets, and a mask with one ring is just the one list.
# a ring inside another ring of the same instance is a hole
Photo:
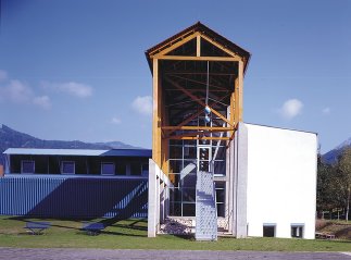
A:
{"label": "grey paved strip along the bottom, in front of the grass", "polygon": [[339,252],[256,252],[256,251],[172,251],[111,249],[33,249],[0,248],[2,260],[351,260],[351,253]]}

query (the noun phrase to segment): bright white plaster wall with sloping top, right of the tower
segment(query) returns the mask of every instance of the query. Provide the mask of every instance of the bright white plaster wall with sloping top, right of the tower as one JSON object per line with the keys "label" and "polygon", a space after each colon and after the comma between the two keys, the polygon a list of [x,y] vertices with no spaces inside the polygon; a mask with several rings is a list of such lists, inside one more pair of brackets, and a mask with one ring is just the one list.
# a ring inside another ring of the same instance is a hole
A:
{"label": "bright white plaster wall with sloping top, right of the tower", "polygon": [[276,237],[291,237],[293,223],[314,238],[317,136],[245,124],[248,131],[247,221],[249,236],[276,224]]}

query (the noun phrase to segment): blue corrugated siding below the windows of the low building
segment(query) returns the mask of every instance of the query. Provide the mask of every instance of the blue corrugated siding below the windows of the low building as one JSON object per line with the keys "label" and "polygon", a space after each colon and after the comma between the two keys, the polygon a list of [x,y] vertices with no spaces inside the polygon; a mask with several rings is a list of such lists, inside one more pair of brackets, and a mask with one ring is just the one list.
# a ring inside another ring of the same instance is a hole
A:
{"label": "blue corrugated siding below the windows of the low building", "polygon": [[148,181],[84,177],[0,178],[0,214],[147,218]]}

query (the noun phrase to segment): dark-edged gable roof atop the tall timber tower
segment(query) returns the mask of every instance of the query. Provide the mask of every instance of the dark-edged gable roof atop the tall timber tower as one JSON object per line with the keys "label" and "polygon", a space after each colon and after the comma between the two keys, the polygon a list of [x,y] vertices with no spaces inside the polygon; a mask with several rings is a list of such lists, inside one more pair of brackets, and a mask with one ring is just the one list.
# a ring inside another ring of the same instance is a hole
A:
{"label": "dark-edged gable roof atop the tall timber tower", "polygon": [[156,54],[158,52],[171,47],[173,44],[175,44],[178,40],[181,40],[185,36],[189,36],[195,33],[201,33],[202,35],[208,36],[212,40],[216,41],[224,48],[237,53],[239,57],[243,58],[243,71],[247,70],[249,60],[251,57],[251,53],[247,50],[242,49],[240,46],[234,44],[233,41],[228,40],[227,38],[223,37],[222,35],[217,34],[216,32],[212,30],[208,26],[203,25],[202,23],[198,22],[190,27],[179,32],[178,34],[165,39],[164,41],[151,47],[146,51],[146,57],[150,66],[150,70],[152,71],[152,57]]}

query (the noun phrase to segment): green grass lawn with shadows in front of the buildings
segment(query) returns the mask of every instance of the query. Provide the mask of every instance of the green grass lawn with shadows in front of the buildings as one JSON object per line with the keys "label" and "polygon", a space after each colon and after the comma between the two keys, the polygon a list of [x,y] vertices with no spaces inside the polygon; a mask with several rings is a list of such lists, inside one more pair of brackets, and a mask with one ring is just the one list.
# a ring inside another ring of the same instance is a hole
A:
{"label": "green grass lawn with shadows in front of the buildings", "polygon": [[[42,235],[30,235],[23,227],[27,221],[0,216],[0,247],[36,248],[110,248],[110,249],[185,249],[185,250],[260,250],[260,251],[351,251],[351,240],[304,240],[280,238],[235,239],[221,237],[217,242],[196,242],[191,237],[159,235],[147,237],[146,220],[118,221],[97,236],[80,231],[80,220],[49,221],[52,226]],[[106,221],[106,220],[93,220]]]}

